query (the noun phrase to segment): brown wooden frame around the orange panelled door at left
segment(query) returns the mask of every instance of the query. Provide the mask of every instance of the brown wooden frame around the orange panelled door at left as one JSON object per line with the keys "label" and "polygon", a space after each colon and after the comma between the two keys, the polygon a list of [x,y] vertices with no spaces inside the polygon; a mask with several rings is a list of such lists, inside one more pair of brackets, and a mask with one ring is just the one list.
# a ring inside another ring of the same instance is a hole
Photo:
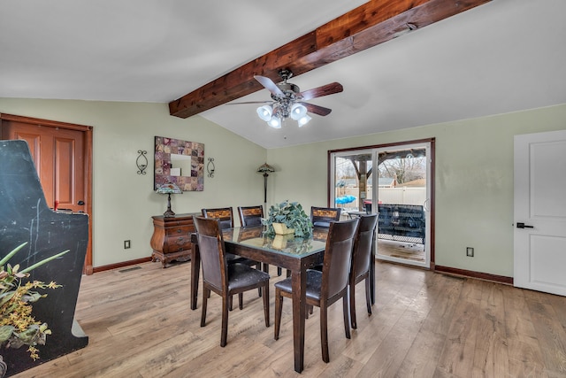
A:
{"label": "brown wooden frame around the orange panelled door at left", "polygon": [[42,127],[53,127],[53,128],[64,128],[69,130],[80,131],[83,133],[83,167],[84,167],[84,197],[87,198],[87,214],[88,214],[88,245],[87,245],[87,256],[85,258],[85,266],[83,268],[84,274],[93,274],[93,255],[92,255],[92,224],[93,224],[93,213],[92,213],[92,126],[77,125],[73,123],[60,122],[57,120],[42,120],[32,117],[19,116],[14,114],[0,113],[0,139],[6,139],[3,132],[4,121],[10,122],[20,122],[28,123],[36,126]]}

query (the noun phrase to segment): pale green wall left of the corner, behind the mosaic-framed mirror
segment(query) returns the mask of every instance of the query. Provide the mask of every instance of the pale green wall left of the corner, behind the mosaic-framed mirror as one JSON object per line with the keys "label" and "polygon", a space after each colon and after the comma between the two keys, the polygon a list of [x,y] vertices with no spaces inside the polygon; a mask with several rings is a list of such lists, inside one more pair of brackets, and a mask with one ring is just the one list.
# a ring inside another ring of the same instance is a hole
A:
{"label": "pale green wall left of the corner, behind the mosaic-framed mirror", "polygon": [[[152,215],[166,210],[166,197],[153,192],[154,136],[204,143],[214,158],[214,178],[204,177],[202,192],[172,196],[177,213],[203,207],[262,204],[264,179],[256,168],[265,162],[264,148],[203,119],[169,115],[167,104],[0,98],[0,112],[92,126],[93,259],[105,266],[151,254]],[[137,174],[138,150],[147,150],[149,167]],[[236,216],[236,223],[237,214]],[[132,248],[124,250],[124,241]]]}

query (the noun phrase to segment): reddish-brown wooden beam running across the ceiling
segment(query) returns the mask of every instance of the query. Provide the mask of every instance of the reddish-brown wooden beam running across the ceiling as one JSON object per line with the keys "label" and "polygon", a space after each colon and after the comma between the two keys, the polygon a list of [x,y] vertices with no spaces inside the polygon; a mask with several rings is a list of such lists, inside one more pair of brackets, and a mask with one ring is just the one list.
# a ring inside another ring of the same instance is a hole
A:
{"label": "reddish-brown wooden beam running across the ceiling", "polygon": [[190,117],[264,89],[254,75],[279,82],[280,69],[307,73],[489,1],[372,0],[172,101],[169,112]]}

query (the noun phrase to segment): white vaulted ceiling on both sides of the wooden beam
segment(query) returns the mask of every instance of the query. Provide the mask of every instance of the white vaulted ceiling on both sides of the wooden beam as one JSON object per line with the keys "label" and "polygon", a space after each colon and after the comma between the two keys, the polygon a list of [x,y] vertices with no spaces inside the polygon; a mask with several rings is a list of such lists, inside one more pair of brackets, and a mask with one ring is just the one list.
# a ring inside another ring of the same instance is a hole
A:
{"label": "white vaulted ceiling on both sides of the wooden beam", "polygon": [[[4,0],[0,97],[169,103],[363,3]],[[344,86],[302,128],[267,127],[253,104],[200,115],[276,148],[566,104],[564,14],[564,0],[493,0],[296,76]]]}

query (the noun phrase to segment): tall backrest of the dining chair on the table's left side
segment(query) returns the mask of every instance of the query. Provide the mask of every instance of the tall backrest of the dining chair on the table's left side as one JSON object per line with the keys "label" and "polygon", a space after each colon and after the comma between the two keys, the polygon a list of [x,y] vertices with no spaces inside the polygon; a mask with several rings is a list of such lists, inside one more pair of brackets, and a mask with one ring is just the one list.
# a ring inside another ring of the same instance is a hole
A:
{"label": "tall backrest of the dining chair on the table's left side", "polygon": [[198,249],[203,264],[203,281],[219,290],[226,288],[226,251],[220,221],[213,218],[193,217]]}

